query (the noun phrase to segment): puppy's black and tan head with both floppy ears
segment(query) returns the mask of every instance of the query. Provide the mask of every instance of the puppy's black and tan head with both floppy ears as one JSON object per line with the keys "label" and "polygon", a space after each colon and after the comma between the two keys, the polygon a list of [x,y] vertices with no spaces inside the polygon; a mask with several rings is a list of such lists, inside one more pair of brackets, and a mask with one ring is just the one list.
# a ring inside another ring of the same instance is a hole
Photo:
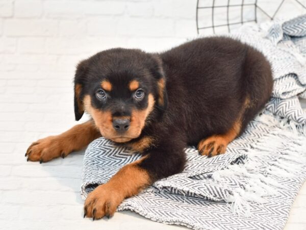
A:
{"label": "puppy's black and tan head with both floppy ears", "polygon": [[157,55],[127,49],[97,53],[75,73],[75,120],[86,111],[104,137],[128,142],[141,134],[155,111],[166,109],[165,83]]}

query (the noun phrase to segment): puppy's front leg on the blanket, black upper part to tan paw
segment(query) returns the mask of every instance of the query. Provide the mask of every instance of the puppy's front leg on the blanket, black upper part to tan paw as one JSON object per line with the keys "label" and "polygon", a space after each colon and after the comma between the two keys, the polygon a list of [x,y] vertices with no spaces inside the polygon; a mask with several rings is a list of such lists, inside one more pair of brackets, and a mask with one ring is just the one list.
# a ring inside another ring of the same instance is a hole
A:
{"label": "puppy's front leg on the blanket, black upper part to tan paw", "polygon": [[182,171],[185,164],[183,148],[178,152],[168,147],[150,150],[149,154],[124,166],[107,183],[92,191],[84,204],[84,217],[93,220],[111,217],[124,198],[138,194],[157,179]]}

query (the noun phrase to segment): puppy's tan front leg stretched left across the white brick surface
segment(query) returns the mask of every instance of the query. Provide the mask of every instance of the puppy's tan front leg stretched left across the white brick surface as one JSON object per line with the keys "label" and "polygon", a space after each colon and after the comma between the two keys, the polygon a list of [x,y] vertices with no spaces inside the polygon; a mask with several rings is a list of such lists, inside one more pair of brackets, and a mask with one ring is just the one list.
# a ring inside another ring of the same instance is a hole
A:
{"label": "puppy's tan front leg stretched left across the white brick surface", "polygon": [[64,158],[72,151],[81,150],[100,135],[94,124],[88,121],[60,135],[48,136],[32,143],[25,156],[32,162],[39,160],[40,163],[59,156]]}

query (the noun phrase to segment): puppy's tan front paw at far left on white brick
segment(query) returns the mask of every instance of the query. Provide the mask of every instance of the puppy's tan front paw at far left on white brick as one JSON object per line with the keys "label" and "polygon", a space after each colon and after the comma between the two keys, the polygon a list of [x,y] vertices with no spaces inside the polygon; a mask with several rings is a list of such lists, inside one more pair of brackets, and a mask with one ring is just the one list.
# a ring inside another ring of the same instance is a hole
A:
{"label": "puppy's tan front paw at far left on white brick", "polygon": [[25,156],[31,162],[48,162],[57,157],[65,157],[69,151],[63,148],[63,140],[58,136],[48,136],[32,143],[28,148]]}

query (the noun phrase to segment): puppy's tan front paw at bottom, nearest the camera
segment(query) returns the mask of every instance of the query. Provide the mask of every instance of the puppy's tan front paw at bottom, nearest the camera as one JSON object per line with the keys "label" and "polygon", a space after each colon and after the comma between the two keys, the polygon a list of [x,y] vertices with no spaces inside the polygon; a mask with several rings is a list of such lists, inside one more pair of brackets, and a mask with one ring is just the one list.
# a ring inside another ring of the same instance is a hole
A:
{"label": "puppy's tan front paw at bottom, nearest the camera", "polygon": [[107,183],[100,185],[88,195],[84,204],[84,217],[92,217],[93,220],[104,216],[110,218],[123,198],[120,192],[112,189]]}

